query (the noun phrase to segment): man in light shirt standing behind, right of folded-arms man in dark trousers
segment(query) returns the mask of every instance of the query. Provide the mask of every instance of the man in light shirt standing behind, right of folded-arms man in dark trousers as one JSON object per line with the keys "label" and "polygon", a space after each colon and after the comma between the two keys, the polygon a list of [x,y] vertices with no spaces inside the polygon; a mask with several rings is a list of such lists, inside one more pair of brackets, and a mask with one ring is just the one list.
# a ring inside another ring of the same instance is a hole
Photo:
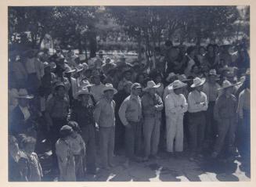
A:
{"label": "man in light shirt standing behind, right of folded-arms man in dark trousers", "polygon": [[[218,78],[218,74],[216,73],[215,69],[209,71],[207,82],[204,84],[203,92],[207,95],[207,123],[206,123],[206,134],[205,138],[207,142],[211,146],[212,143],[215,142],[215,138],[217,135],[217,123],[214,118],[214,108],[215,108],[215,101],[219,95],[218,89],[221,88],[220,85],[216,82]],[[209,147],[210,148],[210,147]]]}

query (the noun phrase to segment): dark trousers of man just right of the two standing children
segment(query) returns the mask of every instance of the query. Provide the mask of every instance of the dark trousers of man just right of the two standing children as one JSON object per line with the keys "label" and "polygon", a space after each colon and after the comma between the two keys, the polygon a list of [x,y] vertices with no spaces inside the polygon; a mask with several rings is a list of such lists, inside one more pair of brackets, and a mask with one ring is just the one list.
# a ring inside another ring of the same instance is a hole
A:
{"label": "dark trousers of man just right of the two standing children", "polygon": [[96,128],[92,124],[81,127],[81,137],[85,141],[84,168],[86,171],[96,171]]}

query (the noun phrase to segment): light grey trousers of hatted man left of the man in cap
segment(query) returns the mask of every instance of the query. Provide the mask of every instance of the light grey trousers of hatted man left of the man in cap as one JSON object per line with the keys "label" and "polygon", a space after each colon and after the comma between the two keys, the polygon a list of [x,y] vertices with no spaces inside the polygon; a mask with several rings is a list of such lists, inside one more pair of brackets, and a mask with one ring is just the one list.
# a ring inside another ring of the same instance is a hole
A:
{"label": "light grey trousers of hatted man left of the man in cap", "polygon": [[99,128],[99,149],[103,167],[113,163],[114,156],[114,127]]}

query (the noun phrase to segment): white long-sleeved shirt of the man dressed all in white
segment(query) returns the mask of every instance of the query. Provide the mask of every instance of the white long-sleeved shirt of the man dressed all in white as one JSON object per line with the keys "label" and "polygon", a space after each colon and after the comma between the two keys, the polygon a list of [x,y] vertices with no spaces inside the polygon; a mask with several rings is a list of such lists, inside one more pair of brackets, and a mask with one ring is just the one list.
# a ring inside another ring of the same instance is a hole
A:
{"label": "white long-sleeved shirt of the man dressed all in white", "polygon": [[165,98],[165,115],[171,116],[174,114],[186,113],[188,110],[188,103],[182,94],[175,94],[171,92]]}

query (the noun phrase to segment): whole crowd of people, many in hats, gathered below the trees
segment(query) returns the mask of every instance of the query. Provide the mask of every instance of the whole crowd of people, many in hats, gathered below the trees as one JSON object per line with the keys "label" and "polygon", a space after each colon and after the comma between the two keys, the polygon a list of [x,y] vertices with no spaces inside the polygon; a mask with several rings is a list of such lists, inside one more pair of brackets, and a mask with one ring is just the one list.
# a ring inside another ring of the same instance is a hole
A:
{"label": "whole crowd of people, many in hats, gathered below the trees", "polygon": [[9,181],[43,178],[39,134],[63,182],[110,170],[115,155],[125,156],[124,167],[157,160],[160,151],[175,159],[186,151],[191,161],[239,155],[250,165],[246,45],[166,41],[150,58],[127,58],[99,51],[86,59],[71,49],[10,54]]}

